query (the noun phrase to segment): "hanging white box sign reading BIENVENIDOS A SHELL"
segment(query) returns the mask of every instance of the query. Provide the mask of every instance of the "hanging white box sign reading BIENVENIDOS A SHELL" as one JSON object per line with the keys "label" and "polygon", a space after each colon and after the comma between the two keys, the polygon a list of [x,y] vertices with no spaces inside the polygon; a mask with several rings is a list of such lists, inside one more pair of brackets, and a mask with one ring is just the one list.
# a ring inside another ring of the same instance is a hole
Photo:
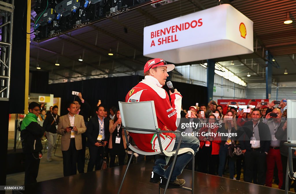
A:
{"label": "hanging white box sign reading BIENVENIDOS A SHELL", "polygon": [[252,52],[253,22],[230,4],[144,28],[145,57],[183,63]]}

